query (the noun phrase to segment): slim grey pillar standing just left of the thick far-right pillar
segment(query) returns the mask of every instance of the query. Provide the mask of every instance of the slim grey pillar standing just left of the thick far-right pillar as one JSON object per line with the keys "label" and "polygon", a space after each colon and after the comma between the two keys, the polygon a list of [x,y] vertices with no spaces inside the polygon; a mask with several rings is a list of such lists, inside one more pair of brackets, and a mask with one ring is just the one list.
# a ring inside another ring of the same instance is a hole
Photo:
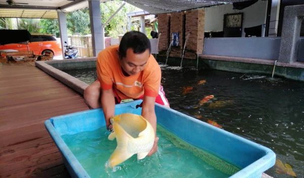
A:
{"label": "slim grey pillar standing just left of the thick far-right pillar", "polygon": [[269,37],[276,37],[278,31],[279,14],[280,14],[280,0],[272,0],[270,23],[269,23]]}

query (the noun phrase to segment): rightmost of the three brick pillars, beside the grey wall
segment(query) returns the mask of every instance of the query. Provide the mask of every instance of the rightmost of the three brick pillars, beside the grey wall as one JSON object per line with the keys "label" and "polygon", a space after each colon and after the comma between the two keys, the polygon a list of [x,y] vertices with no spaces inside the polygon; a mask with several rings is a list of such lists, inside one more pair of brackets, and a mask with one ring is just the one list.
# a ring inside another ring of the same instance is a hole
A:
{"label": "rightmost of the three brick pillars, beside the grey wall", "polygon": [[203,53],[205,32],[205,11],[203,9],[186,12],[185,37],[187,34],[184,58],[196,59]]}

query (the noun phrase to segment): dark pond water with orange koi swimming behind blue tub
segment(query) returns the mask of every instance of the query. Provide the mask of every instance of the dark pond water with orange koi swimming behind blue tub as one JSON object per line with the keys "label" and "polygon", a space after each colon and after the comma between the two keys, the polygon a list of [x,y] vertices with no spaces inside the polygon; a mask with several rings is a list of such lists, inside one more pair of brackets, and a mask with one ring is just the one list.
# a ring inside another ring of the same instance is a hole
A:
{"label": "dark pond water with orange koi swimming behind blue tub", "polygon": [[[95,70],[64,72],[90,84]],[[162,85],[172,109],[272,149],[276,165],[265,173],[304,177],[304,82],[163,66]]]}

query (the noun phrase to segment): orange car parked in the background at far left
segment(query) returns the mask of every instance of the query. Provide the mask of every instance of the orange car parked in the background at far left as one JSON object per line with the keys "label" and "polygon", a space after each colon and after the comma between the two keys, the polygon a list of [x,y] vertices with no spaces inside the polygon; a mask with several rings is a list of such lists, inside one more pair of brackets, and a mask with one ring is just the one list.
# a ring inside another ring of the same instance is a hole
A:
{"label": "orange car parked in the background at far left", "polygon": [[58,56],[62,54],[61,44],[57,42],[56,38],[48,34],[31,34],[29,42],[0,45],[0,50],[33,51],[35,55],[53,53],[53,56]]}

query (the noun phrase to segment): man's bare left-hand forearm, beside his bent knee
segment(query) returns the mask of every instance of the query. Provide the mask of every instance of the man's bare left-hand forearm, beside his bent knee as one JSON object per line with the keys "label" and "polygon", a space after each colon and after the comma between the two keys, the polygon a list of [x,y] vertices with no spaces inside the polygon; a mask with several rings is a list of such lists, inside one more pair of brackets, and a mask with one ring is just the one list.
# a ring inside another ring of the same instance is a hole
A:
{"label": "man's bare left-hand forearm, beside his bent knee", "polygon": [[103,109],[103,114],[105,118],[106,128],[111,129],[112,125],[110,123],[110,118],[114,115],[115,111],[115,98],[113,90],[103,90],[101,89],[101,107]]}

